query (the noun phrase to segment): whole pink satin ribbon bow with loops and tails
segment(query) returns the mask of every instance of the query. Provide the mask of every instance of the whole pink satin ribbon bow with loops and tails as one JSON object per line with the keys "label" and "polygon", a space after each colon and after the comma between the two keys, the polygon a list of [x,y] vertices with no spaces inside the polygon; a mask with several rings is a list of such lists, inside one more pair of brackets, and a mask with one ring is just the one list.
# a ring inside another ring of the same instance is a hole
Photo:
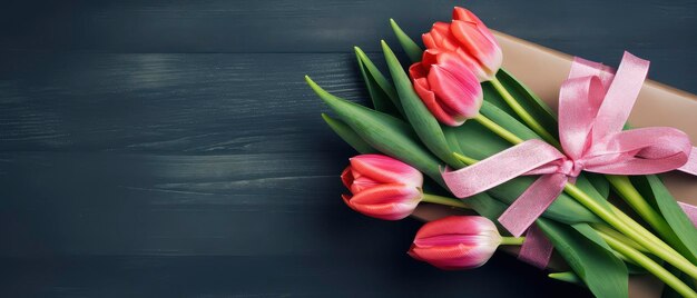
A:
{"label": "whole pink satin ribbon bow with loops and tails", "polygon": [[501,215],[499,222],[522,235],[581,171],[650,175],[679,169],[697,175],[697,149],[675,128],[622,131],[648,72],[649,61],[625,52],[612,73],[575,58],[559,92],[561,149],[528,140],[472,166],[442,173],[458,198],[485,191],[516,177],[541,175]]}

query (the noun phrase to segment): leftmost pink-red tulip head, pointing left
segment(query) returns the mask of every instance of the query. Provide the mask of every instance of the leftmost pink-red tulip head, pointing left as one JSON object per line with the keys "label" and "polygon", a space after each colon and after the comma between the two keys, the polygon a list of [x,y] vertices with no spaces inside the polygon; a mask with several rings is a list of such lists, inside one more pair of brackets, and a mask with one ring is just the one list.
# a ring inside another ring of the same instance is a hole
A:
{"label": "leftmost pink-red tulip head, pointing left", "polygon": [[341,178],[353,193],[342,195],[344,202],[370,217],[386,220],[405,218],[423,197],[421,172],[386,156],[356,156]]}

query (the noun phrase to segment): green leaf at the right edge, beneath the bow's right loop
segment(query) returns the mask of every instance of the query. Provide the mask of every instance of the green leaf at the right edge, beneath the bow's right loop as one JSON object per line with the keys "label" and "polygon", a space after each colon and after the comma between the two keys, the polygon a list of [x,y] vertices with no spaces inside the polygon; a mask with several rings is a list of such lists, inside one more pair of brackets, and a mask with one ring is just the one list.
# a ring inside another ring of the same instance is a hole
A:
{"label": "green leaf at the right edge, beneath the bow's right loop", "polygon": [[683,247],[676,247],[676,249],[685,251],[684,255],[690,252],[691,256],[686,257],[694,262],[697,259],[697,228],[683,211],[675,197],[670,195],[668,188],[656,175],[632,176],[630,179],[639,193],[662,215],[681,241]]}

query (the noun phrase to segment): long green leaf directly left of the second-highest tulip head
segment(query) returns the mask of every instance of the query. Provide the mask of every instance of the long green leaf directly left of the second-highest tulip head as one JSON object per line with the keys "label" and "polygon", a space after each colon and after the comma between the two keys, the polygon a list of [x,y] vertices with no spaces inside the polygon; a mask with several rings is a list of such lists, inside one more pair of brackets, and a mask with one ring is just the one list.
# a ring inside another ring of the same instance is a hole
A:
{"label": "long green leaf directly left of the second-highest tulip head", "polygon": [[404,115],[411,123],[412,128],[416,131],[416,135],[423,141],[423,143],[441,160],[445,161],[449,166],[458,169],[464,165],[454,158],[453,150],[448,146],[448,140],[441,130],[435,117],[431,115],[431,111],[421,101],[421,98],[414,91],[414,88],[409,79],[409,76],[404,72],[402,64],[394,56],[394,52],[387,47],[385,41],[382,41],[382,50],[387,61],[387,68],[390,68],[390,74],[396,87],[397,95],[400,96],[400,102],[404,108]]}

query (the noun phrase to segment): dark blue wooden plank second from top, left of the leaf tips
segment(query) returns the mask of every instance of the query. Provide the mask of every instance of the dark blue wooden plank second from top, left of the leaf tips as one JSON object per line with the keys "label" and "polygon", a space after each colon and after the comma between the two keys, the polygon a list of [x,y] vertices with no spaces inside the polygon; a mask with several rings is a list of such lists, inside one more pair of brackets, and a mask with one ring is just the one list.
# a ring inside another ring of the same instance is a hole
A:
{"label": "dark blue wooden plank second from top, left of the leaf tips", "polygon": [[303,77],[364,100],[354,63],[351,53],[9,54],[0,150],[336,148],[320,117],[327,109]]}

